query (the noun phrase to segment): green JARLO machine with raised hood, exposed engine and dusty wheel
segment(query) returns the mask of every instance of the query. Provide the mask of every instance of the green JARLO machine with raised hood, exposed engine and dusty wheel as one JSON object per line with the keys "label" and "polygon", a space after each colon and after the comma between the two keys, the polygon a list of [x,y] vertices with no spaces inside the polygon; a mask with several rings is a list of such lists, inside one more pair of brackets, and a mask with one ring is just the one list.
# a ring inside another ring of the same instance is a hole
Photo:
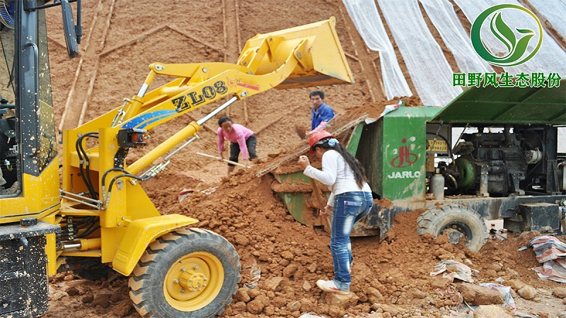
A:
{"label": "green JARLO machine with raised hood, exposed engine and dusty wheel", "polygon": [[[473,251],[487,241],[486,220],[502,219],[512,232],[559,231],[566,213],[560,84],[472,87],[446,107],[402,106],[371,124],[360,118],[331,130],[364,165],[374,196],[391,201],[376,204],[352,235],[383,239],[397,213],[417,209],[424,210],[420,235],[444,233]],[[302,171],[270,172],[280,184],[308,184]],[[323,224],[311,189],[273,189],[296,220]]]}

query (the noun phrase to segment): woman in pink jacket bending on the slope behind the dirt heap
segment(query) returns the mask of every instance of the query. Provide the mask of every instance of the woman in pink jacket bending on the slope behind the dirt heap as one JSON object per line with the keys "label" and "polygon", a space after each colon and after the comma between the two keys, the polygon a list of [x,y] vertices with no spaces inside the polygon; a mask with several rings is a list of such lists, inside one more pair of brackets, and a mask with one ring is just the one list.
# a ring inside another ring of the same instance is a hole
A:
{"label": "woman in pink jacket bending on the slope behind the dirt heap", "polygon": [[[258,158],[255,154],[255,146],[258,140],[251,129],[248,129],[241,124],[233,124],[232,119],[228,116],[220,117],[218,119],[218,160],[224,160],[224,139],[230,141],[230,160],[238,162],[238,155],[242,153],[244,165],[248,166],[250,160]],[[234,170],[234,165],[228,164],[228,175]]]}

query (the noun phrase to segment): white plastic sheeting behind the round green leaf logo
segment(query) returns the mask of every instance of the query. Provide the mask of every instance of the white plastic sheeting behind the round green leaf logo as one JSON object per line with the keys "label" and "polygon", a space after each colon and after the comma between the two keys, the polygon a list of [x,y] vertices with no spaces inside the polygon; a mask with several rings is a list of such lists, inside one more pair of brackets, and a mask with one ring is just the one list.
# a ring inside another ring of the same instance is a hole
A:
{"label": "white plastic sheeting behind the round green leaf logo", "polygon": [[[516,0],[476,0],[476,1],[469,1],[469,0],[454,0],[456,4],[462,9],[462,12],[466,15],[466,18],[470,20],[470,23],[473,23],[476,18],[482,13],[485,9],[490,8],[491,6],[495,6],[497,4],[515,4],[517,6],[521,6],[518,1]],[[548,1],[555,4],[555,6],[559,6],[559,1]],[[489,19],[489,18],[488,18]],[[526,13],[523,13],[519,10],[505,10],[502,12],[502,19],[505,23],[509,26],[514,26],[517,28],[516,25],[520,25],[520,28],[527,28],[530,30],[535,30],[538,33],[538,25],[535,23],[534,20],[526,18]],[[564,16],[562,16],[562,21]],[[505,47],[504,43],[495,37],[489,30],[489,28],[482,28],[481,31],[481,38],[485,43],[487,49],[492,52],[492,54],[507,54],[507,48]],[[531,38],[529,42],[529,50],[534,49],[536,43],[538,42],[537,35]],[[555,42],[555,40],[545,32],[543,28],[543,43],[541,48],[538,49],[538,52],[526,61],[524,64],[519,64],[517,66],[512,67],[504,67],[503,69],[509,72],[510,75],[516,75],[518,73],[533,73],[533,72],[542,72],[545,73],[545,76],[548,75],[550,72],[556,72],[560,74],[560,76],[564,76],[566,74],[566,52],[562,50]],[[497,53],[495,53],[497,52]]]}

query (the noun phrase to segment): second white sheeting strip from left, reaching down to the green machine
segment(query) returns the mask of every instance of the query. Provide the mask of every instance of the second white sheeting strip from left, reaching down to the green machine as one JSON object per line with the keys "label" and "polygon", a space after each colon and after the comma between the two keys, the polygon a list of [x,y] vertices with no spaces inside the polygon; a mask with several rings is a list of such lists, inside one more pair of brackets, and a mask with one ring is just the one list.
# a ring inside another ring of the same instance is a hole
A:
{"label": "second white sheeting strip from left, reaching down to the green machine", "polygon": [[378,0],[424,105],[445,106],[462,92],[450,64],[424,22],[417,0]]}

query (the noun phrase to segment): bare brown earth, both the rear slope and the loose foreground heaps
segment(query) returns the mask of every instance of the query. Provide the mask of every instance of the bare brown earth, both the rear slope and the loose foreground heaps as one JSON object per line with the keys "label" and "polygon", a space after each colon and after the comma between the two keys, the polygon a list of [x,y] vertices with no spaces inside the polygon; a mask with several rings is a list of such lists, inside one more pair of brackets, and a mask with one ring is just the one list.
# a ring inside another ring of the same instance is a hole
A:
{"label": "bare brown earth, both the rear slope and the loose foreground heaps", "polygon": [[[57,124],[63,129],[93,119],[122,105],[139,90],[147,65],[227,61],[235,63],[246,39],[257,33],[294,27],[335,16],[337,33],[347,53],[356,83],[322,87],[326,102],[342,118],[369,114],[376,117],[385,100],[379,74],[379,56],[366,49],[341,1],[83,1],[81,55],[67,59],[60,26],[60,11],[47,11],[50,30],[53,98]],[[439,38],[437,36],[437,38]],[[439,40],[439,45],[448,52]],[[400,54],[398,59],[402,61]],[[449,61],[456,70],[454,59]],[[405,75],[408,71],[402,64]],[[167,78],[156,78],[156,84]],[[412,85],[411,85],[412,88]],[[376,237],[354,237],[352,292],[357,301],[346,310],[329,305],[330,298],[316,288],[320,278],[332,278],[328,249],[330,238],[323,228],[301,225],[289,215],[272,192],[272,175],[255,172],[304,146],[294,125],[308,126],[308,92],[313,88],[268,90],[231,105],[223,114],[244,124],[258,136],[260,162],[251,170],[236,170],[225,177],[226,167],[216,160],[195,155],[216,154],[216,119],[204,124],[200,140],[173,156],[168,169],[144,182],[154,204],[164,214],[180,213],[197,218],[197,227],[214,230],[237,249],[242,281],[223,317],[299,317],[311,312],[324,317],[441,317],[458,311],[461,300],[453,283],[434,288],[429,275],[440,260],[454,259],[478,271],[478,282],[520,279],[534,288],[534,300],[516,302],[519,312],[558,317],[562,300],[552,295],[560,283],[542,281],[531,270],[538,266],[531,249],[517,252],[538,233],[524,233],[507,240],[490,240],[480,252],[451,245],[446,237],[416,234],[422,211],[395,216],[394,227],[382,242]],[[414,91],[414,89],[412,88]],[[417,97],[406,98],[418,106]],[[186,117],[158,126],[151,146],[168,138],[217,105],[202,107]],[[279,153],[270,157],[268,154]],[[132,155],[139,155],[134,152]],[[280,169],[298,170],[291,160]],[[192,189],[182,202],[178,194]],[[385,204],[385,202],[382,202]],[[260,269],[257,287],[243,288]],[[266,281],[281,277],[275,290]],[[89,281],[74,273],[50,278],[50,311],[44,317],[139,317],[127,295],[127,278],[110,273]],[[451,316],[454,317],[454,316]],[[463,317],[463,316],[461,316]]]}

